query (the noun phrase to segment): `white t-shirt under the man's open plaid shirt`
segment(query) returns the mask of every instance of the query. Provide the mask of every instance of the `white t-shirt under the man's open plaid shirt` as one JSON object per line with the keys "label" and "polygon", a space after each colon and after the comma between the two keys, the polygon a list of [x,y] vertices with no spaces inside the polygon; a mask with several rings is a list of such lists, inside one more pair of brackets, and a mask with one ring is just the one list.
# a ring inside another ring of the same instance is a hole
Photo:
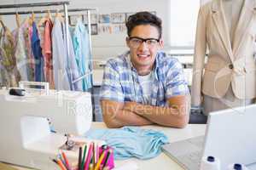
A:
{"label": "white t-shirt under the man's open plaid shirt", "polygon": [[143,87],[143,100],[144,104],[149,104],[149,99],[151,95],[151,85],[153,82],[152,71],[145,76],[138,76],[140,85]]}

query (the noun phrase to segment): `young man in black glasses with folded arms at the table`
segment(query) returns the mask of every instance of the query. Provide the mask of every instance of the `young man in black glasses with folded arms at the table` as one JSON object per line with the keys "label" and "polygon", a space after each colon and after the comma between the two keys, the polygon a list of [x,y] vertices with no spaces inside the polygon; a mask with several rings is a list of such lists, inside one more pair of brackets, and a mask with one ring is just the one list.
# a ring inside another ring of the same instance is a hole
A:
{"label": "young man in black glasses with folded arms at the table", "polygon": [[159,52],[161,20],[139,12],[126,22],[130,51],[109,59],[105,67],[101,105],[108,127],[159,124],[185,127],[189,121],[189,88],[183,67]]}

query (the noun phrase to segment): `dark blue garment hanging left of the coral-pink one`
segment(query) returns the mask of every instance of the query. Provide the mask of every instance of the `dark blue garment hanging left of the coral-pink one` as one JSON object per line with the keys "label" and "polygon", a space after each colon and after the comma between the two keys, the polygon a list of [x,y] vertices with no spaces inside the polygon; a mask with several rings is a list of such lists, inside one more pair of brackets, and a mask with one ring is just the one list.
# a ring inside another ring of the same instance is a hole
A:
{"label": "dark blue garment hanging left of the coral-pink one", "polygon": [[32,23],[32,52],[35,58],[35,81],[44,82],[44,57],[38,36],[38,28],[35,22]]}

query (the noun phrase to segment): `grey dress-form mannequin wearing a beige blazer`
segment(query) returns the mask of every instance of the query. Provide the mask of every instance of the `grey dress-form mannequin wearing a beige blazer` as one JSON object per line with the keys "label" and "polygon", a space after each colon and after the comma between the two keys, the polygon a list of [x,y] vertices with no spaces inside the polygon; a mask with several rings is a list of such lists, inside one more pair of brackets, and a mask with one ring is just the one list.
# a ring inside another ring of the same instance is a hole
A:
{"label": "grey dress-form mannequin wearing a beige blazer", "polygon": [[[252,11],[246,12],[249,6]],[[256,77],[253,48],[249,48],[253,47],[255,39],[243,35],[256,25],[254,6],[254,0],[212,0],[201,7],[195,40],[192,105],[202,105],[206,115],[211,111],[252,104],[256,97],[255,82],[247,84],[247,78]],[[249,53],[245,44],[249,44]],[[209,57],[203,75],[207,48]],[[250,75],[243,71],[248,66],[247,61],[251,61],[250,68],[254,69]]]}

